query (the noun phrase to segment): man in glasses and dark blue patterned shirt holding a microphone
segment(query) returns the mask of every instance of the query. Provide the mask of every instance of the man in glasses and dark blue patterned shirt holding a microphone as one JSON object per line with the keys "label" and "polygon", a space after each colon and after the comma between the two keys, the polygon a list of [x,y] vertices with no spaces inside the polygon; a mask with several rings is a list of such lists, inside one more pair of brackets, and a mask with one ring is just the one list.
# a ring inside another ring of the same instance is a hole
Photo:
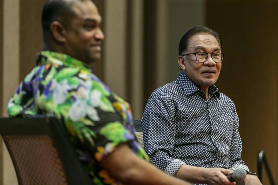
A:
{"label": "man in glasses and dark blue patterned shirt holding a microphone", "polygon": [[[197,26],[179,43],[178,78],[150,96],[142,117],[150,162],[197,184],[234,184],[226,175],[248,170],[241,160],[235,105],[214,85],[224,54],[219,35]],[[249,172],[250,173],[250,172]],[[246,185],[261,184],[248,174]]]}

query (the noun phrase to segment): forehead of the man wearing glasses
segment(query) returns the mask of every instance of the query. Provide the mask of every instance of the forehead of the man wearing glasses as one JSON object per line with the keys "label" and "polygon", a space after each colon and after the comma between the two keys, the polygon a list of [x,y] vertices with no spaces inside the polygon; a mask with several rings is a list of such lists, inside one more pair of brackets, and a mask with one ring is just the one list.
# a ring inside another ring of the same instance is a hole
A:
{"label": "forehead of the man wearing glasses", "polygon": [[214,36],[207,33],[198,33],[188,39],[188,50],[208,49],[221,50]]}

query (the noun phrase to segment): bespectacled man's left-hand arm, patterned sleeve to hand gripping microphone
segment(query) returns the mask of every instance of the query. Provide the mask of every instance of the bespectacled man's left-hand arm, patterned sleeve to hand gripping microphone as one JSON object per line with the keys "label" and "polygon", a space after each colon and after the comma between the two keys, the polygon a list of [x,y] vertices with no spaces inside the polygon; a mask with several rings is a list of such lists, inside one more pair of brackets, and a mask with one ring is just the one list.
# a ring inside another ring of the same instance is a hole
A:
{"label": "bespectacled man's left-hand arm, patterned sleeve to hand gripping microphone", "polygon": [[[165,97],[165,96],[163,96]],[[171,98],[152,95],[146,105],[142,127],[144,147],[150,162],[169,175],[175,175],[190,183],[232,185],[224,168],[201,168],[185,164],[172,157],[175,146],[175,102]]]}

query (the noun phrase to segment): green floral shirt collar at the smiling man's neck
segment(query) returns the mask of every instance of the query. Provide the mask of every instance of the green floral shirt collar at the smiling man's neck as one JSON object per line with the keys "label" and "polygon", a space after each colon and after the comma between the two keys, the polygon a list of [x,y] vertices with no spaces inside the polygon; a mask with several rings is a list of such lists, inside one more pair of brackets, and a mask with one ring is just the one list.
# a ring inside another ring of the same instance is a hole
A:
{"label": "green floral shirt collar at the smiling man's neck", "polygon": [[52,51],[42,51],[36,54],[37,65],[41,64],[58,64],[65,65],[67,67],[78,67],[80,69],[89,69],[88,64],[72,58],[71,56],[63,53],[52,52]]}

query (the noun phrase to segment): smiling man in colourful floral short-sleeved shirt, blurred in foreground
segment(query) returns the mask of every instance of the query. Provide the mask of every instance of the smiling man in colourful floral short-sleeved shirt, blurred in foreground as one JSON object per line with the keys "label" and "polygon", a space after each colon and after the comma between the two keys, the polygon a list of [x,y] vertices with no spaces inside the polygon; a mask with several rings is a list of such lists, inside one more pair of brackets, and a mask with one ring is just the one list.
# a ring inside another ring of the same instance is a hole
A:
{"label": "smiling man in colourful floral short-sleeved shirt, blurred in foreground", "polygon": [[104,39],[100,22],[90,0],[46,3],[43,51],[10,99],[9,115],[61,119],[92,184],[188,184],[148,163],[128,103],[92,74],[89,66],[100,59]]}

